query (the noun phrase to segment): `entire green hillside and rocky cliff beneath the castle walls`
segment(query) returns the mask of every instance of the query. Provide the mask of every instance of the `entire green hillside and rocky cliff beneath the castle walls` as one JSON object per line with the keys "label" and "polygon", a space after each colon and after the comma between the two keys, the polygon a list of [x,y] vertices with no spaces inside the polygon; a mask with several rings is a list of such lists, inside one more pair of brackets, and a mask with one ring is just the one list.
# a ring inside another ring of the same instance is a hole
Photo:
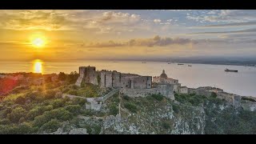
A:
{"label": "entire green hillside and rocky cliff beneath the castle walls", "polygon": [[[74,86],[69,86],[69,89]],[[0,103],[0,134],[256,134],[256,112],[214,95],[114,94],[102,110],[62,98],[63,86],[19,86]]]}

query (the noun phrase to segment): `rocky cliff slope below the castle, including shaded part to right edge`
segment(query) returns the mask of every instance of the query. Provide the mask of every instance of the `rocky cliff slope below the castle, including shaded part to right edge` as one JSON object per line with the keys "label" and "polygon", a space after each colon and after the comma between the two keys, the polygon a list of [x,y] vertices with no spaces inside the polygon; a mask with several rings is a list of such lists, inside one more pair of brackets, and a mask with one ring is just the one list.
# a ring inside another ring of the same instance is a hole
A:
{"label": "rocky cliff slope below the castle, including shaded part to right edge", "polygon": [[219,98],[176,98],[180,102],[159,95],[129,98],[116,94],[101,111],[88,111],[53,134],[256,133],[256,112],[236,108]]}

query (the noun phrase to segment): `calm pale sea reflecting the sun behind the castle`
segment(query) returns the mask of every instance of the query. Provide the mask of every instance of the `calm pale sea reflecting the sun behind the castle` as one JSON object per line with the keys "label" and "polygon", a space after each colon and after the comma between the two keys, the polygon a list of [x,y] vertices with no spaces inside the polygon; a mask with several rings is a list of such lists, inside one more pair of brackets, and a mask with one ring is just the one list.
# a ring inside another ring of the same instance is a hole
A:
{"label": "calm pale sea reflecting the sun behind the castle", "polygon": [[[42,66],[41,66],[42,65]],[[43,74],[70,73],[78,66],[96,66],[97,70],[118,70],[123,73],[158,76],[166,70],[169,78],[178,79],[182,86],[216,86],[226,92],[256,96],[256,66],[226,66],[207,64],[168,64],[166,62],[112,62],[112,61],[70,61],[70,62],[0,62],[0,73],[30,72],[42,69]],[[192,65],[192,66],[188,66]],[[238,70],[238,73],[224,70]]]}

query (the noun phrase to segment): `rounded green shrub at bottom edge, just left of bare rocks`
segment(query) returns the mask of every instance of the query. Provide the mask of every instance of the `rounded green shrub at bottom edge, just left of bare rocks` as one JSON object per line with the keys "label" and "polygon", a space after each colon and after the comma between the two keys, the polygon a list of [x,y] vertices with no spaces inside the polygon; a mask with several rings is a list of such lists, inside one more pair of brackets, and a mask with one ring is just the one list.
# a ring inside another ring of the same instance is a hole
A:
{"label": "rounded green shrub at bottom edge, just left of bare rocks", "polygon": [[51,133],[58,130],[58,128],[61,126],[62,126],[61,122],[58,122],[57,119],[52,119],[49,122],[46,122],[45,124],[43,124],[40,130]]}

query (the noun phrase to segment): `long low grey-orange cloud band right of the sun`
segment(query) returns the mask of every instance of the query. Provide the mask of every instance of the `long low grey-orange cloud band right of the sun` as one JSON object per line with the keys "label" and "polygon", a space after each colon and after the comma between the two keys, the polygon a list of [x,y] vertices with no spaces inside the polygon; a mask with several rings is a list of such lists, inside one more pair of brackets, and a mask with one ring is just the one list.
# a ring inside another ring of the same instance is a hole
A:
{"label": "long low grey-orange cloud band right of the sun", "polygon": [[86,47],[118,47],[118,46],[170,46],[174,44],[185,45],[190,43],[197,43],[189,38],[161,38],[158,35],[154,38],[135,38],[128,42],[97,42],[90,43]]}

